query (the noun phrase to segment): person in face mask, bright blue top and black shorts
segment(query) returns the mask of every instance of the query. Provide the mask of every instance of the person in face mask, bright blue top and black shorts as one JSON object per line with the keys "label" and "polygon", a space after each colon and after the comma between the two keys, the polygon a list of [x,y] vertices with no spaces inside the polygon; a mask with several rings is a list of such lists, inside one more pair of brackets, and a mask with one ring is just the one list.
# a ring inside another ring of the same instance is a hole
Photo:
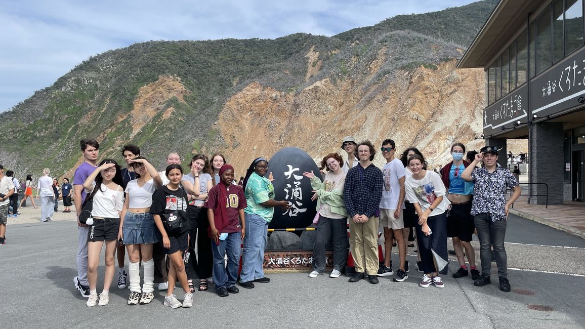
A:
{"label": "person in face mask, bright blue top and black shorts", "polygon": [[479,271],[476,269],[475,251],[471,244],[475,230],[471,215],[473,182],[464,181],[461,177],[463,170],[470,165],[469,162],[463,160],[464,155],[465,145],[455,143],[451,146],[453,161],[441,169],[441,180],[447,189],[446,196],[451,201],[451,210],[447,218],[447,236],[453,238],[453,248],[459,262],[459,270],[453,273],[453,277],[458,279],[469,275],[463,256],[463,249],[465,249],[472,279],[476,280],[479,278]]}

